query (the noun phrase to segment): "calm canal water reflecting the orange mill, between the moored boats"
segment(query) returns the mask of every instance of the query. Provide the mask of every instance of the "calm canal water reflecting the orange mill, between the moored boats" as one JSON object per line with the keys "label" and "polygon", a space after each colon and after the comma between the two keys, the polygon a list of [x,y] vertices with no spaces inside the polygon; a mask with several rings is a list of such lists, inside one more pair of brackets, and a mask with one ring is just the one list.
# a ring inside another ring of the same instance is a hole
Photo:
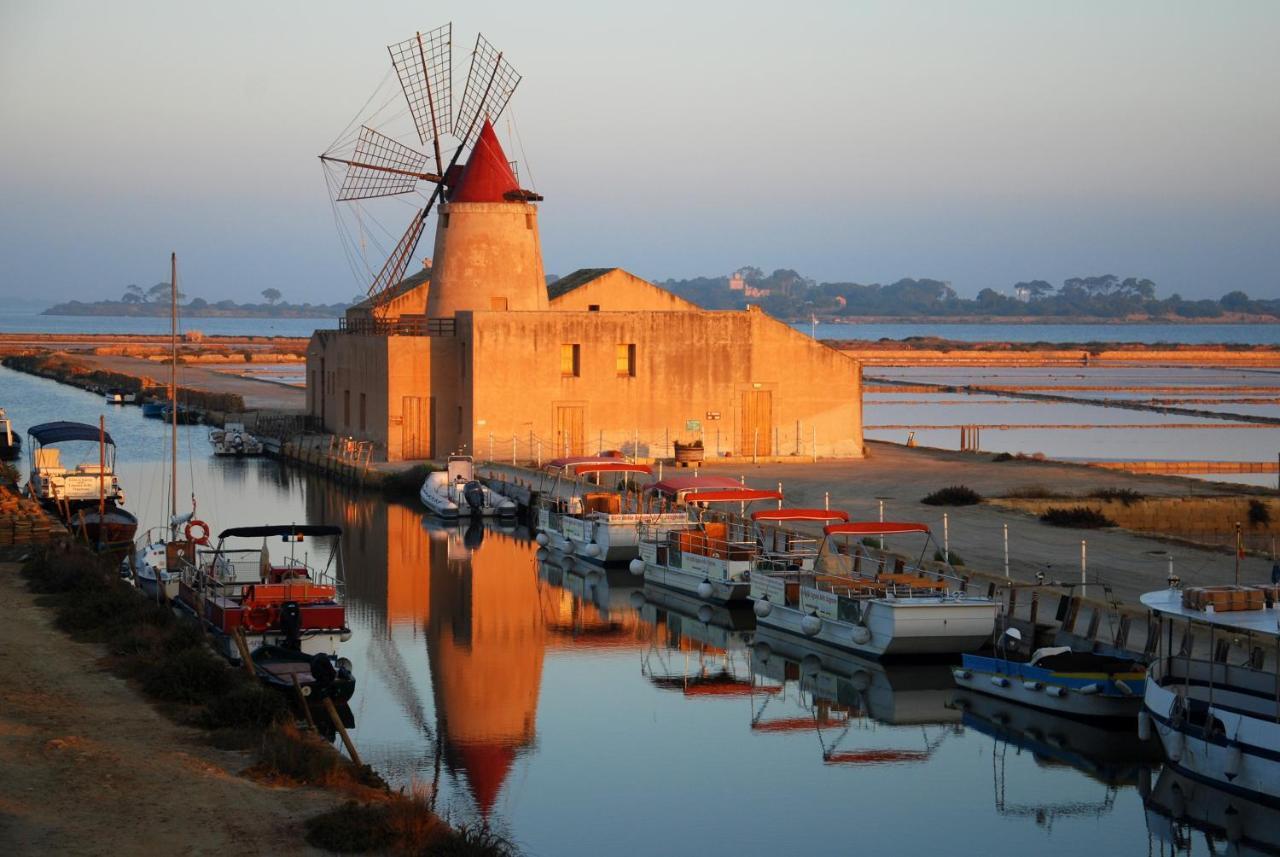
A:
{"label": "calm canal water reflecting the orange mill, between the moored boats", "polygon": [[[0,402],[20,427],[104,411],[6,370]],[[155,523],[164,430],[136,408],[108,414],[129,505]],[[1225,849],[1221,834],[1210,843],[1144,807],[1139,780],[1160,796],[1169,776],[1129,734],[957,706],[937,666],[814,670],[785,641],[756,646],[749,617],[540,563],[522,531],[444,528],[270,460],[219,462],[202,428],[182,431],[182,490],[195,482],[215,530],[346,527],[361,753],[526,853]],[[1221,825],[1212,797],[1190,806]],[[1272,811],[1248,817],[1280,831]]]}

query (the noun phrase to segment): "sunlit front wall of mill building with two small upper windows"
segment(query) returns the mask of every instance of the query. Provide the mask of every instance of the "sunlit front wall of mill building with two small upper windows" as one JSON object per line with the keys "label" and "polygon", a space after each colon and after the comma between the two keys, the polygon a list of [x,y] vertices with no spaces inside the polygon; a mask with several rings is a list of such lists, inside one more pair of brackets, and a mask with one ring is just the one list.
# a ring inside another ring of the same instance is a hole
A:
{"label": "sunlit front wall of mill building with two small upper windows", "polygon": [[[474,402],[465,412],[481,455],[493,435],[499,458],[512,436],[521,455],[536,437],[550,458],[563,452],[556,445],[573,409],[585,452],[602,440],[632,452],[639,436],[634,452],[657,457],[668,440],[700,437],[709,452],[718,444],[750,455],[753,397],[768,402],[756,421],[762,454],[808,457],[814,439],[823,457],[863,454],[859,365],[756,311],[474,312],[458,316],[458,336],[470,343]],[[562,371],[562,347],[572,344],[577,376]],[[618,367],[618,345],[632,344],[634,376]]]}

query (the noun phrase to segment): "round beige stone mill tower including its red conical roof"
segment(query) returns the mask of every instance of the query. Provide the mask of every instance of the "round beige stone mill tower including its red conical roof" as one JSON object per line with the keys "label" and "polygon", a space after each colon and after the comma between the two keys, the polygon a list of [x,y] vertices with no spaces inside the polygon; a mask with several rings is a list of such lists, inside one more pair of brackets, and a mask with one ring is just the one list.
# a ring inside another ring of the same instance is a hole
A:
{"label": "round beige stone mill tower including its red conical roof", "polygon": [[520,194],[488,120],[439,207],[433,258],[430,318],[465,310],[547,310],[538,206]]}

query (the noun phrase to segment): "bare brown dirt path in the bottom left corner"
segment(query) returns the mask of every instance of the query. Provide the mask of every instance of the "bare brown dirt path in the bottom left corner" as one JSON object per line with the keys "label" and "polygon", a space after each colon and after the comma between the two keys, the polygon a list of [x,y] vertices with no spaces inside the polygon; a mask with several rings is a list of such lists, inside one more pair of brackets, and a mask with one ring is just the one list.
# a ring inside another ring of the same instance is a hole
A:
{"label": "bare brown dirt path in the bottom left corner", "polygon": [[323,854],[302,820],[319,789],[269,788],[239,752],[156,712],[35,605],[0,563],[0,853]]}

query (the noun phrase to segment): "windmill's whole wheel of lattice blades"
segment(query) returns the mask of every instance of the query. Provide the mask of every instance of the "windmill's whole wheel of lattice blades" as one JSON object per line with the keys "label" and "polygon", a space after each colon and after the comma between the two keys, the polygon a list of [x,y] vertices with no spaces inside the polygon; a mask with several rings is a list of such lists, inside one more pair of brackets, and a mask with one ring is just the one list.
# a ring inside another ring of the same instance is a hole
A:
{"label": "windmill's whole wheel of lattice blades", "polygon": [[[415,205],[416,211],[408,228],[387,253],[385,262],[378,272],[374,274],[372,269],[365,266],[365,278],[371,276],[367,294],[375,317],[390,298],[389,289],[403,279],[431,208],[442,200],[448,201],[449,188],[461,173],[462,155],[475,145],[484,123],[492,123],[502,115],[521,79],[503,52],[490,45],[483,35],[476,35],[466,84],[454,111],[452,23],[417,32],[411,38],[389,45],[387,50],[392,60],[388,79],[394,72],[404,97],[402,110],[388,118],[387,123],[392,124],[407,114],[412,123],[412,132],[408,133],[416,132],[417,142],[428,151],[419,151],[412,145],[401,142],[393,133],[387,133],[385,128],[379,129],[381,123],[378,118],[387,113],[392,102],[398,101],[398,97],[392,95],[372,111],[371,116],[365,119],[357,116],[352,120],[339,138],[320,155],[329,179],[339,232],[343,221],[337,210],[338,203],[361,206],[366,200],[421,194],[424,192],[420,183],[424,182],[433,185],[425,203],[421,207]],[[378,95],[379,92],[375,92],[365,106],[374,104]],[[445,162],[443,152],[451,147],[452,156]],[[515,169],[515,164],[512,168]],[[525,189],[512,191],[507,196],[520,201],[543,198]],[[361,256],[364,256],[366,217],[362,208],[356,210],[361,230]],[[351,262],[353,262],[349,252],[352,244],[355,242],[348,239],[348,246],[344,247]],[[360,276],[355,263],[352,270]]]}

